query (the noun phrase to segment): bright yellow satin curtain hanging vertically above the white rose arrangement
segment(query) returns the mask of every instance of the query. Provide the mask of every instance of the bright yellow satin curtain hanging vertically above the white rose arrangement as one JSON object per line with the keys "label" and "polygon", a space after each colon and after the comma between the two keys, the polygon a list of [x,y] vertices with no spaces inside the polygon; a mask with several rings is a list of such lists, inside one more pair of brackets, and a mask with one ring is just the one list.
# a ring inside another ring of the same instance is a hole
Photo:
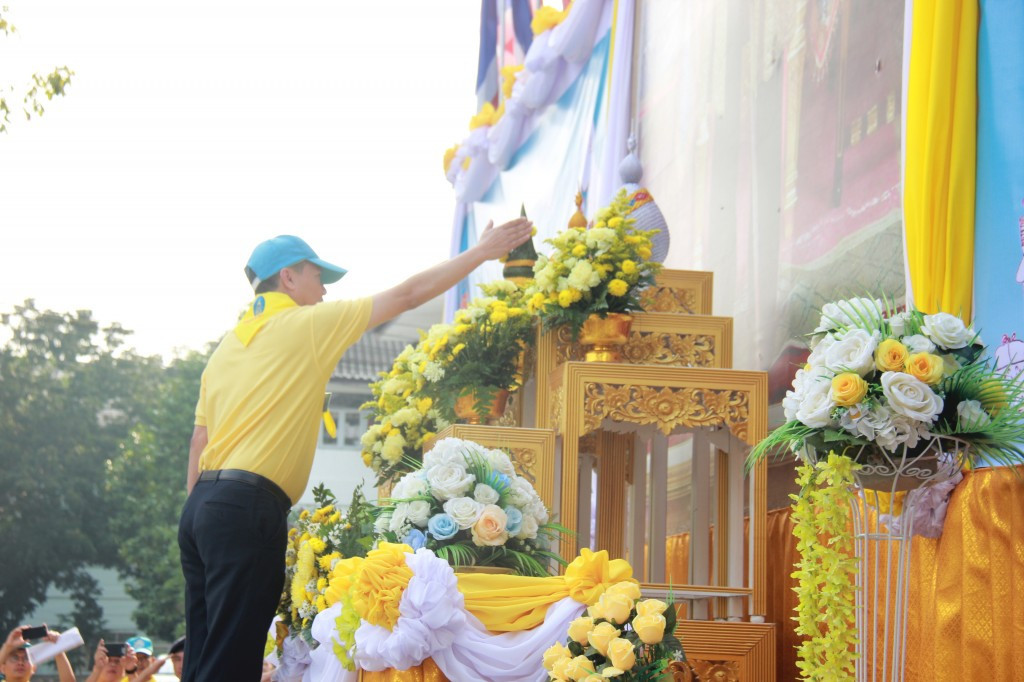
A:
{"label": "bright yellow satin curtain hanging vertically above the white rose arrangement", "polygon": [[971,319],[977,0],[914,0],[903,217],[913,300]]}

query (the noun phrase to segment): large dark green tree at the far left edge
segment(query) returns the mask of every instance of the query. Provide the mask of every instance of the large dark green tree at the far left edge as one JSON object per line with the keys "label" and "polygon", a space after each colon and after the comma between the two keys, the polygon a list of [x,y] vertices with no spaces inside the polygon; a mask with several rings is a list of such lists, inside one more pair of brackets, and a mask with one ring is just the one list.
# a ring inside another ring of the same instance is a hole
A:
{"label": "large dark green tree at the far left edge", "polygon": [[92,565],[117,566],[122,539],[106,494],[112,460],[153,411],[162,367],[124,347],[127,332],[100,329],[87,310],[39,310],[32,300],[2,315],[0,347],[0,632],[69,590],[69,614],[87,641],[102,625]]}

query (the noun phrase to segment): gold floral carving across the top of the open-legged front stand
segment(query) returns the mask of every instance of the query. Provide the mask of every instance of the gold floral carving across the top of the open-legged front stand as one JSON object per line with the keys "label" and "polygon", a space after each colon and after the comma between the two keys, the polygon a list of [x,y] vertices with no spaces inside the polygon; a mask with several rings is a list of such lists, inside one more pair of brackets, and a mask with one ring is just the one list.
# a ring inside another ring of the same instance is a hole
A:
{"label": "gold floral carving across the top of the open-legged front stand", "polygon": [[680,426],[726,426],[737,437],[745,433],[749,394],[745,391],[709,388],[584,385],[584,432],[604,419],[629,424],[653,424],[669,435]]}

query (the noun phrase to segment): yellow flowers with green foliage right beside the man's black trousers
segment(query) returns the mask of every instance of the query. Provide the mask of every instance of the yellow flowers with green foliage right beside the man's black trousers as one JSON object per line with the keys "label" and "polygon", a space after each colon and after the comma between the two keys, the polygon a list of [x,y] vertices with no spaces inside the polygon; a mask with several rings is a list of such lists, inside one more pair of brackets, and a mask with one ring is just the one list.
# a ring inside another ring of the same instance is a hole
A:
{"label": "yellow flowers with green foliage right beside the man's black trousers", "polygon": [[312,620],[330,605],[326,592],[331,571],[345,557],[366,555],[373,545],[374,523],[373,506],[361,485],[344,511],[324,485],[313,489],[313,499],[317,508],[303,510],[288,531],[285,590],[278,607],[288,635],[301,637],[307,644],[313,643]]}

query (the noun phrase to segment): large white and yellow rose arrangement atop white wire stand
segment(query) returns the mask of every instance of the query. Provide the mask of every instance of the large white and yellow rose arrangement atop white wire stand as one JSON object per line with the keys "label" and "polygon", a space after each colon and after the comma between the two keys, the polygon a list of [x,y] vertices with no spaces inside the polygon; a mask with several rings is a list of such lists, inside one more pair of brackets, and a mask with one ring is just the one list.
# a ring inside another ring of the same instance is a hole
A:
{"label": "large white and yellow rose arrangement atop white wire stand", "polygon": [[1022,384],[983,358],[977,334],[958,317],[888,301],[852,298],[825,305],[807,365],[782,400],[786,422],[762,440],[750,461],[784,446],[801,452],[893,453],[916,457],[940,436],[983,456],[1024,460]]}

